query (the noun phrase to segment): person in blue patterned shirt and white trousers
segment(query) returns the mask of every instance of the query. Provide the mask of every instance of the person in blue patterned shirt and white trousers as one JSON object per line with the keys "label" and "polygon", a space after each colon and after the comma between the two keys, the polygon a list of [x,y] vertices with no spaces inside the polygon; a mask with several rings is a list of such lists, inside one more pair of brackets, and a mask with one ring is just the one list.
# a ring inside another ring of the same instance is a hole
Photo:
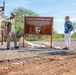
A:
{"label": "person in blue patterned shirt and white trousers", "polygon": [[64,28],[65,28],[64,39],[65,39],[66,47],[63,49],[69,50],[69,48],[71,47],[71,42],[70,42],[71,32],[74,30],[74,26],[73,26],[72,22],[70,21],[69,16],[65,17]]}

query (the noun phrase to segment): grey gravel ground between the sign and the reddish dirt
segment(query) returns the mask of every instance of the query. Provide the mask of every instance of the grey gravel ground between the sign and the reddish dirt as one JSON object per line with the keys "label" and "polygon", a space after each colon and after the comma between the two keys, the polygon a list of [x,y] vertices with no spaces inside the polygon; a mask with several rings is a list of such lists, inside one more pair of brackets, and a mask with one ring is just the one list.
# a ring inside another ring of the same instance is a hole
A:
{"label": "grey gravel ground between the sign and the reddish dirt", "polygon": [[[36,44],[46,44],[49,42],[33,42]],[[64,47],[64,42],[53,42],[54,46]],[[16,58],[26,58],[26,57],[36,57],[36,56],[52,56],[52,55],[72,55],[76,54],[76,41],[72,42],[72,48],[70,50],[56,50],[52,48],[22,48],[14,49],[13,43],[11,43],[11,49],[6,49],[6,43],[3,46],[0,45],[0,60],[16,59]]]}

